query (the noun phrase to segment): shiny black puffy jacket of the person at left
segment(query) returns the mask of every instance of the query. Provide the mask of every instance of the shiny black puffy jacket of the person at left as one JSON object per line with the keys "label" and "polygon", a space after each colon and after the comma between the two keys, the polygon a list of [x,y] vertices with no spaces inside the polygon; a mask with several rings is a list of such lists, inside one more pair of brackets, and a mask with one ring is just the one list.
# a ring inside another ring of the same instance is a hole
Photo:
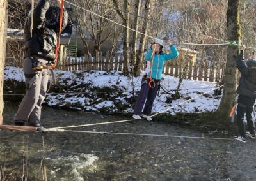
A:
{"label": "shiny black puffy jacket of the person at left", "polygon": [[[40,0],[33,11],[33,31],[31,37],[31,12],[24,25],[24,38],[26,46],[26,57],[31,55],[38,55],[49,61],[55,59],[55,47],[58,40],[58,32],[60,29],[59,18],[55,22],[48,22],[45,20],[45,14],[49,10],[49,0]],[[67,25],[68,14],[63,11],[63,26],[61,31]]]}

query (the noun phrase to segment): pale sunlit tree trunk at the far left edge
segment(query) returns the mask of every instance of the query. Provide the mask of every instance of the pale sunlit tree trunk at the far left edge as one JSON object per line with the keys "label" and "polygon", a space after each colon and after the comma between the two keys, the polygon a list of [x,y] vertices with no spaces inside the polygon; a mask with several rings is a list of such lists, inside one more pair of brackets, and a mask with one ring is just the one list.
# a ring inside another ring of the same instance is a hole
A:
{"label": "pale sunlit tree trunk at the far left edge", "polygon": [[7,0],[1,1],[0,4],[0,125],[3,124],[3,85],[4,85],[4,62],[6,50],[6,34],[7,34]]}

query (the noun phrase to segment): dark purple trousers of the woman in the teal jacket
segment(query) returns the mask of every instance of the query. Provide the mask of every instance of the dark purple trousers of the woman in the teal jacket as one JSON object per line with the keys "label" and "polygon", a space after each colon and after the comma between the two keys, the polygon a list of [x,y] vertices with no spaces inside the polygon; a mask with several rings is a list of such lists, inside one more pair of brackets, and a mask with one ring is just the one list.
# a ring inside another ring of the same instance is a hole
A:
{"label": "dark purple trousers of the woman in the teal jacket", "polygon": [[160,80],[154,80],[154,82],[156,83],[156,86],[153,88],[149,87],[148,81],[149,80],[148,79],[146,80],[145,77],[143,76],[142,81],[141,81],[140,95],[139,95],[139,97],[136,101],[136,105],[134,107],[134,114],[136,114],[136,115],[141,115],[141,111],[143,109],[146,99],[147,99],[147,101],[146,101],[146,104],[144,106],[142,113],[145,115],[151,114],[153,102],[154,102],[154,99],[156,98],[156,94],[159,89]]}

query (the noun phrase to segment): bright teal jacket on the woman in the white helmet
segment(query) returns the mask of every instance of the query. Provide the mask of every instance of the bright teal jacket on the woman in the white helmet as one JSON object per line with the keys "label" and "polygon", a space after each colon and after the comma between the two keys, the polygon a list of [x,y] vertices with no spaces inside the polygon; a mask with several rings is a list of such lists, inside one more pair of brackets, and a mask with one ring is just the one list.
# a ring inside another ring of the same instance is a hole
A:
{"label": "bright teal jacket on the woman in the white helmet", "polygon": [[[161,80],[162,71],[164,68],[164,61],[175,59],[175,57],[179,55],[179,52],[174,45],[170,46],[170,50],[171,50],[170,54],[161,53],[161,54],[154,55],[154,61],[153,61],[152,73],[151,73],[152,78],[156,80]],[[153,53],[153,50],[152,48],[150,48],[147,54],[145,55],[145,59],[147,61],[152,61],[152,58],[151,58],[152,53]],[[150,72],[147,75],[150,76]]]}

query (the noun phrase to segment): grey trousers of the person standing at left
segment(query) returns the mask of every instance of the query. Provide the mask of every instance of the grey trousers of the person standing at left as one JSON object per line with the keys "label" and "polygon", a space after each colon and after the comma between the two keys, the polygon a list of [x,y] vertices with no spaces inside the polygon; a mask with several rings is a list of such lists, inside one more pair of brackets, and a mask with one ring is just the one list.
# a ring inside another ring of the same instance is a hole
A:
{"label": "grey trousers of the person standing at left", "polygon": [[[45,59],[37,57],[39,62],[47,63]],[[25,75],[26,94],[19,105],[19,109],[14,117],[14,120],[24,120],[30,126],[35,126],[40,122],[42,103],[45,99],[47,84],[49,82],[49,70],[35,72],[32,70],[32,63],[29,57],[24,59],[23,71]],[[36,77],[33,76],[36,73]],[[35,79],[35,80],[33,80]],[[31,80],[33,80],[31,82]]]}

